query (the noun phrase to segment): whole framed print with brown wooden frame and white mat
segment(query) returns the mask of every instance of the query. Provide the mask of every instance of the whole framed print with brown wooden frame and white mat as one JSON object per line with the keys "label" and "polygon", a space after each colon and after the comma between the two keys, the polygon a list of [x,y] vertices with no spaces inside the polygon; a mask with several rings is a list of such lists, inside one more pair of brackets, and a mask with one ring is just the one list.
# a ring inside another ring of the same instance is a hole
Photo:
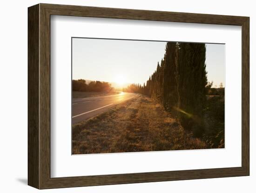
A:
{"label": "whole framed print with brown wooden frame and white mat", "polygon": [[28,185],[249,175],[249,17],[28,8]]}

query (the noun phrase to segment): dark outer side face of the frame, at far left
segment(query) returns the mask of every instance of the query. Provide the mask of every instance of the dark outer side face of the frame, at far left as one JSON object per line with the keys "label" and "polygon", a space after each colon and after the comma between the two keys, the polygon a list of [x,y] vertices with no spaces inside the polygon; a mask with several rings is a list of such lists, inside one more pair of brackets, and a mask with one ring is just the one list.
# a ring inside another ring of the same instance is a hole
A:
{"label": "dark outer side face of the frame, at far left", "polygon": [[39,188],[39,5],[28,9],[28,180]]}

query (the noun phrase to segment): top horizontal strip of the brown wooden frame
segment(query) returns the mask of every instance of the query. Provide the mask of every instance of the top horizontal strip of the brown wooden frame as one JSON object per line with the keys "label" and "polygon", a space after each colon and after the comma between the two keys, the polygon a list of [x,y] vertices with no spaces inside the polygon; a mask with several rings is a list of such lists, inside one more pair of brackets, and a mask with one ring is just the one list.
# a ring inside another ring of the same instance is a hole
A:
{"label": "top horizontal strip of the brown wooden frame", "polygon": [[44,9],[47,9],[48,13],[52,15],[69,15],[96,18],[139,19],[153,21],[172,21],[185,23],[203,23],[238,26],[242,26],[243,22],[246,20],[246,17],[198,13],[177,13],[164,11],[148,11],[90,6],[69,6],[54,4],[40,4],[40,6],[43,6]]}

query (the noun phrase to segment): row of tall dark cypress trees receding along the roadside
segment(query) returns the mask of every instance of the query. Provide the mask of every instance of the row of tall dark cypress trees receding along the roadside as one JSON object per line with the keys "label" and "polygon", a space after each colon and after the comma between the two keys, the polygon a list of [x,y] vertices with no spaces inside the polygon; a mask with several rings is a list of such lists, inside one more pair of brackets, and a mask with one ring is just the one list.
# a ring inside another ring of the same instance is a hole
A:
{"label": "row of tall dark cypress trees receding along the roadside", "polygon": [[164,58],[147,84],[132,84],[134,92],[150,96],[177,116],[184,129],[202,136],[206,102],[206,48],[202,43],[168,42]]}

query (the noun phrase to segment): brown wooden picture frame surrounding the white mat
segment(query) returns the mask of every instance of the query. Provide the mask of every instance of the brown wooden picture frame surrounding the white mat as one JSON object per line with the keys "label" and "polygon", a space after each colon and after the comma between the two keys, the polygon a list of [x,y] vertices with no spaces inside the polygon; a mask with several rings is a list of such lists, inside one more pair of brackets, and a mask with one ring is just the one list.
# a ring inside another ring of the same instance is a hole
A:
{"label": "brown wooden picture frame surrounding the white mat", "polygon": [[[50,16],[66,15],[242,26],[242,167],[51,178]],[[38,4],[28,8],[28,185],[38,188],[249,175],[249,17]]]}

